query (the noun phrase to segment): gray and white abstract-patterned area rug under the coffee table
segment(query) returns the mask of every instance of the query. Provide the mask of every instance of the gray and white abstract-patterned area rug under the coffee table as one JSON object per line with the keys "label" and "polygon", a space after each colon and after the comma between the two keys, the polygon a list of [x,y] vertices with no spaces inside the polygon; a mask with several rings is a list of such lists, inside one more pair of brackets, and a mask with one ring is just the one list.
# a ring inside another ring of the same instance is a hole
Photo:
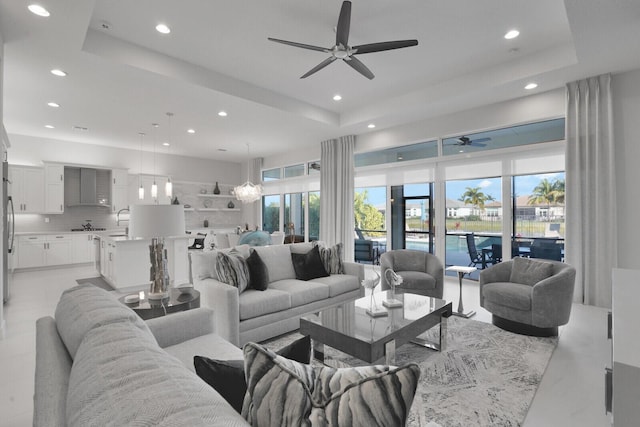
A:
{"label": "gray and white abstract-patterned area rug under the coffee table", "polygon": [[[421,337],[432,335],[435,340],[437,329]],[[294,332],[263,344],[277,349],[299,337]],[[407,425],[522,425],[557,342],[557,338],[518,335],[489,323],[450,317],[444,352],[413,344],[396,349],[397,365],[413,362],[421,368]],[[363,364],[338,351],[325,351],[339,364]]]}

